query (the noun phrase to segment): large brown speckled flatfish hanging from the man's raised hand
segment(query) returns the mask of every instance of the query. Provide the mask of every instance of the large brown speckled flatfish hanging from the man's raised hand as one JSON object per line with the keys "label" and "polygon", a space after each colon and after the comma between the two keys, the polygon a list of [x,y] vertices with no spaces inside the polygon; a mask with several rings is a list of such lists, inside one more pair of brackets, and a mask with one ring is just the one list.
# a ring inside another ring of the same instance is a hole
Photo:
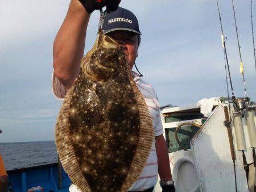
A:
{"label": "large brown speckled flatfish hanging from the man's raised hand", "polygon": [[57,117],[63,168],[83,192],[127,191],[142,173],[153,140],[152,119],[123,44],[99,31]]}

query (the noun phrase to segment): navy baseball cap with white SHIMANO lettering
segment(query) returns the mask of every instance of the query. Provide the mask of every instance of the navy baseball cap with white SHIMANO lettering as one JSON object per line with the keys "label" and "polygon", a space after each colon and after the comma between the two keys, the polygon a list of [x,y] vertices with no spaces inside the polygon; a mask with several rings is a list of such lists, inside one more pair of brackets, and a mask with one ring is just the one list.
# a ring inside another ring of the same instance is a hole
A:
{"label": "navy baseball cap with white SHIMANO lettering", "polygon": [[135,34],[141,35],[136,16],[133,12],[123,9],[122,7],[118,7],[116,11],[110,12],[106,15],[102,24],[102,31],[104,34],[117,30],[131,31]]}

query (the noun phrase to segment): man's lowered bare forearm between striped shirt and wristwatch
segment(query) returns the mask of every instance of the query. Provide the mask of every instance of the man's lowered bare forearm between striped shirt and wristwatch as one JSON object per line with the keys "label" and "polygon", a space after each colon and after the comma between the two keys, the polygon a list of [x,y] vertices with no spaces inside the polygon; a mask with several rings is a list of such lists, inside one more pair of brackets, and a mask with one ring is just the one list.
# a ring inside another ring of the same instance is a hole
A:
{"label": "man's lowered bare forearm between striped shirt and wristwatch", "polygon": [[158,156],[158,173],[162,181],[172,180],[168,149],[164,136],[155,137],[156,155]]}

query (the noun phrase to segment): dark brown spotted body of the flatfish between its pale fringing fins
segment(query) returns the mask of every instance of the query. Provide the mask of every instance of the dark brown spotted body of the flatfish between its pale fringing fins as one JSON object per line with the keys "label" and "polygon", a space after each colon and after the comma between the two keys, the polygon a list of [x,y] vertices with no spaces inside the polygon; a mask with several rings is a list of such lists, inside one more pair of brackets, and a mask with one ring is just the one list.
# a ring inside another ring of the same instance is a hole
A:
{"label": "dark brown spotted body of the flatfish between its pale fringing fins", "polygon": [[[90,80],[81,73],[76,80],[70,110],[73,147],[92,191],[121,189],[139,138],[137,101],[126,66],[118,60],[123,53],[117,55],[115,50],[100,49],[97,52],[104,53],[94,53],[96,56],[93,55],[89,65],[104,81]],[[102,57],[117,65],[118,73],[100,71],[97,62],[102,62]]]}

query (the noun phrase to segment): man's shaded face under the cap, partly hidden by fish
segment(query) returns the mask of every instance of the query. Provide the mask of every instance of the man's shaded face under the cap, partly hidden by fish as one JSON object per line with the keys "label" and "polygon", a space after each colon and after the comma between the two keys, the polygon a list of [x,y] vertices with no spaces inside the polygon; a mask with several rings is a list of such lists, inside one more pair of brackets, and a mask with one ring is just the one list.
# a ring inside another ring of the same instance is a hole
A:
{"label": "man's shaded face under the cap, partly hidden by fish", "polygon": [[138,55],[138,36],[134,32],[123,30],[109,32],[108,36],[125,43],[124,51],[126,59],[132,69]]}

